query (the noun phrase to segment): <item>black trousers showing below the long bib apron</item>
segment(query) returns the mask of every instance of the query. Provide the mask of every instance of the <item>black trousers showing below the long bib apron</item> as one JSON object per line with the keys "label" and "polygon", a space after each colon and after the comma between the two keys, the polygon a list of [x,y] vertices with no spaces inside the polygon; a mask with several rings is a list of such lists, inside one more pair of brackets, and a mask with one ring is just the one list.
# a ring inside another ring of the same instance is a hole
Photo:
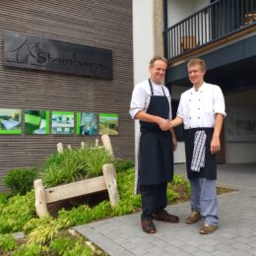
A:
{"label": "black trousers showing below the long bib apron", "polygon": [[141,185],[142,220],[152,219],[152,215],[161,212],[167,205],[167,183]]}

